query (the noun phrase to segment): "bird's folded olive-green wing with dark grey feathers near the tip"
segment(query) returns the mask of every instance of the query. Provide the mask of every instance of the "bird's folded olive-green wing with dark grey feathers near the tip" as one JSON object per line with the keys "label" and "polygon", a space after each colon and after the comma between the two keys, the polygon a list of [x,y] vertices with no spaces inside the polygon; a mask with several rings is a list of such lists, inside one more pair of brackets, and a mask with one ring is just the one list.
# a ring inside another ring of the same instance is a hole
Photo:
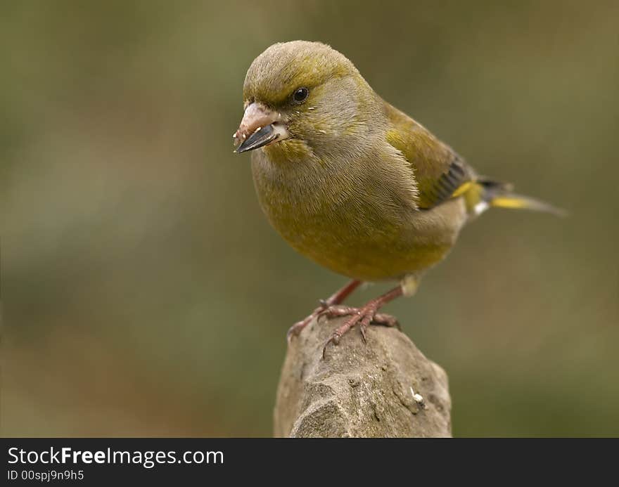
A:
{"label": "bird's folded olive-green wing with dark grey feathers near the tip", "polygon": [[419,207],[429,209],[464,193],[476,177],[464,159],[411,117],[385,106],[390,119],[387,142],[402,152],[414,171]]}

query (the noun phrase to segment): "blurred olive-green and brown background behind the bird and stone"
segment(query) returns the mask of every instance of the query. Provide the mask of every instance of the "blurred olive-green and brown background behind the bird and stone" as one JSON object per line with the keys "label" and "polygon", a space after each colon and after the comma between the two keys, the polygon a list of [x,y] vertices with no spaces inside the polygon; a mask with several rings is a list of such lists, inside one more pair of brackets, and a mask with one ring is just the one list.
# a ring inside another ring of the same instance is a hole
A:
{"label": "blurred olive-green and brown background behind the bird and stone", "polygon": [[4,2],[2,434],[272,434],[286,330],[345,279],[269,227],[231,134],[253,58],[308,39],[570,212],[485,214],[388,307],[447,370],[454,435],[619,435],[618,20],[616,1]]}

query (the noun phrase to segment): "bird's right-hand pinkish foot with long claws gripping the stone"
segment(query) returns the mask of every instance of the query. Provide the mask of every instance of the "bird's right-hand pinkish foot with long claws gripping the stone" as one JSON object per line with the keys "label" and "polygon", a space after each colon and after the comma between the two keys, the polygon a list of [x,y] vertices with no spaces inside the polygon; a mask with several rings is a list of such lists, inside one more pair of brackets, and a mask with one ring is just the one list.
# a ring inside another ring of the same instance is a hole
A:
{"label": "bird's right-hand pinkish foot with long claws gripping the stone", "polygon": [[322,357],[325,356],[326,347],[328,344],[333,343],[337,345],[340,342],[340,338],[348,331],[350,328],[359,324],[359,331],[361,332],[361,337],[364,342],[367,342],[366,330],[369,325],[383,325],[389,327],[397,327],[400,329],[400,323],[397,322],[397,319],[391,315],[385,313],[377,313],[378,308],[383,304],[381,301],[374,300],[370,301],[365,306],[361,308],[352,308],[351,306],[330,306],[327,309],[323,309],[319,311],[319,316],[327,316],[328,318],[335,318],[337,316],[350,316],[343,325],[338,327],[333,335],[327,340],[326,344],[324,344],[324,348],[322,349]]}

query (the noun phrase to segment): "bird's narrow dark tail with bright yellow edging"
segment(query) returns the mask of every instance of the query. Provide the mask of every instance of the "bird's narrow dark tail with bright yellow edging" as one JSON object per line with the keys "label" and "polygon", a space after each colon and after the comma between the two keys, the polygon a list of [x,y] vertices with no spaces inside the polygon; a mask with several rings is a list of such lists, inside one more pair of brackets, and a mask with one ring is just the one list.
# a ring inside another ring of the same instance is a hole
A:
{"label": "bird's narrow dark tail with bright yellow edging", "polygon": [[471,182],[463,193],[468,212],[479,215],[488,208],[530,209],[536,212],[547,212],[556,216],[566,216],[565,210],[552,204],[537,200],[530,196],[513,193],[509,183],[499,183],[485,178]]}

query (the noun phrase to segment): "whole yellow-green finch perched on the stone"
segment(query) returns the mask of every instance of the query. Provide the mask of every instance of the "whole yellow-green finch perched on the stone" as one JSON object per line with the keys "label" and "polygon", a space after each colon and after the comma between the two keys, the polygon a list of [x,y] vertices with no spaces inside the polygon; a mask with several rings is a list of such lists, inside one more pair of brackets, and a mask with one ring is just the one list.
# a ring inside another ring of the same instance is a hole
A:
{"label": "whole yellow-green finch perched on the stone", "polygon": [[[251,151],[260,207],[288,244],[350,282],[288,330],[346,316],[323,348],[358,326],[398,326],[379,313],[410,297],[466,223],[492,207],[563,214],[480,176],[463,157],[371,88],[327,44],[287,41],[251,63],[235,152]],[[395,281],[358,308],[343,301],[364,282]]]}

